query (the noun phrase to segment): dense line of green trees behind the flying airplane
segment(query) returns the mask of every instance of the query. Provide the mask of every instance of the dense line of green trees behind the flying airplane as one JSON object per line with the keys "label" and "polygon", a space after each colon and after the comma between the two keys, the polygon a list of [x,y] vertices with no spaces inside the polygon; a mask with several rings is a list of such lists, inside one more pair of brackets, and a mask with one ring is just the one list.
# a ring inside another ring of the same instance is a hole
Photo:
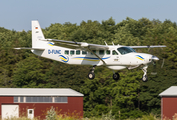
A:
{"label": "dense line of green trees behind the flying airplane", "polygon": [[[46,38],[117,45],[166,45],[166,48],[136,49],[158,56],[161,60],[148,68],[149,80],[142,82],[137,68],[121,70],[120,80],[112,71],[96,67],[94,80],[87,74],[92,66],[67,65],[38,57],[30,50],[31,31],[18,32],[0,27],[0,87],[72,88],[84,94],[84,116],[101,116],[110,110],[116,118],[137,118],[144,114],[160,115],[159,93],[177,85],[177,25],[165,20],[134,20],[127,17],[115,23],[111,17],[102,21],[82,21],[80,25],[55,23],[42,29]],[[162,60],[165,60],[162,67]],[[157,74],[152,75],[153,71]]]}

